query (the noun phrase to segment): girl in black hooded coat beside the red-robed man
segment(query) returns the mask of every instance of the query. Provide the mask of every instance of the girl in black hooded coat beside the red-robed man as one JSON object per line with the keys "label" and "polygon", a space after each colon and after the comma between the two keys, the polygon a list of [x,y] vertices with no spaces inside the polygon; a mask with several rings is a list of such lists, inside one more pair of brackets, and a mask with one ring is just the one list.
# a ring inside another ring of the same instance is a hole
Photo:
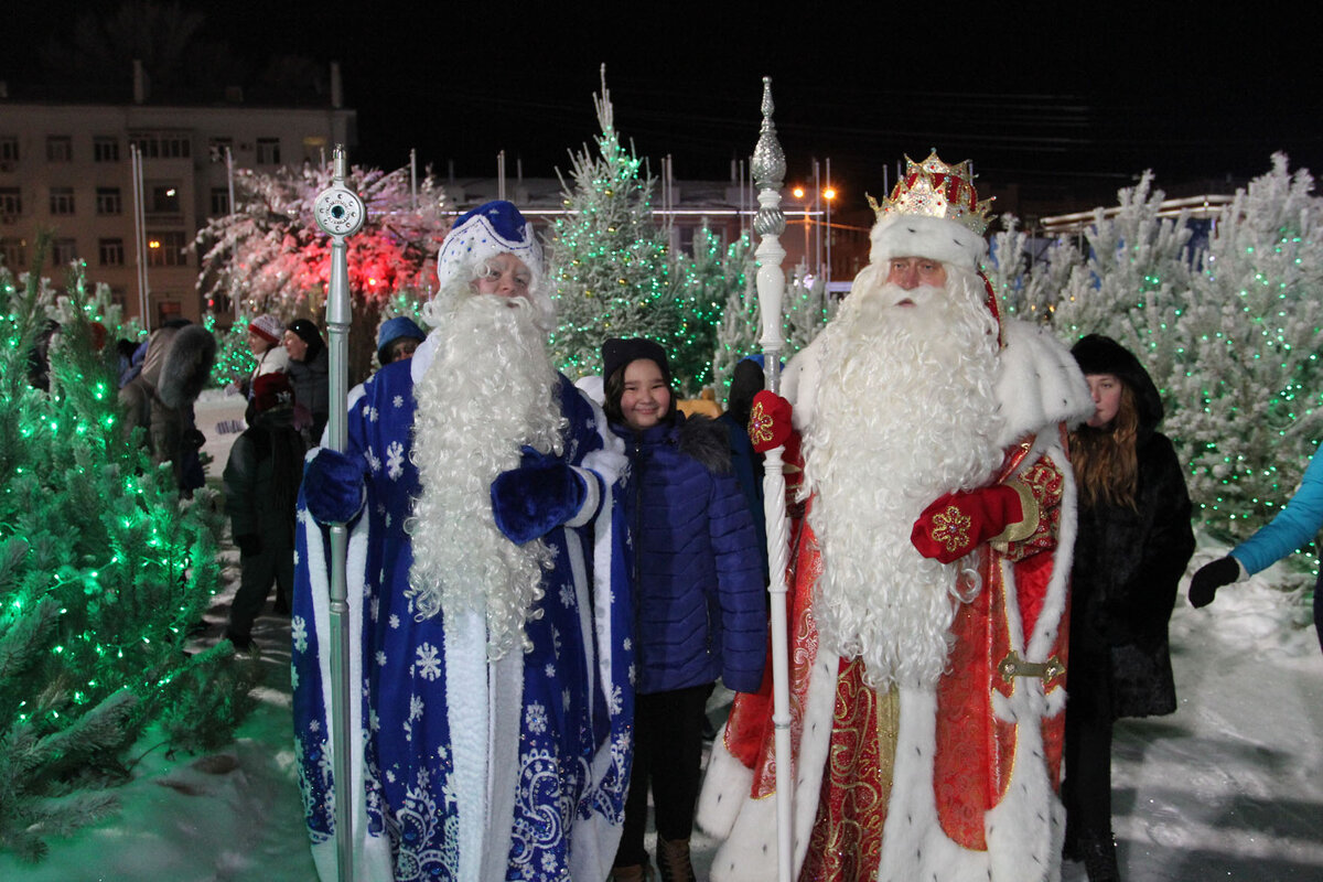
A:
{"label": "girl in black hooded coat beside the red-robed man", "polygon": [[1176,710],[1167,623],[1195,551],[1184,469],[1158,431],[1162,399],[1110,337],[1070,350],[1094,415],[1070,434],[1080,528],[1066,680],[1065,856],[1090,882],[1119,879],[1111,836],[1111,725]]}

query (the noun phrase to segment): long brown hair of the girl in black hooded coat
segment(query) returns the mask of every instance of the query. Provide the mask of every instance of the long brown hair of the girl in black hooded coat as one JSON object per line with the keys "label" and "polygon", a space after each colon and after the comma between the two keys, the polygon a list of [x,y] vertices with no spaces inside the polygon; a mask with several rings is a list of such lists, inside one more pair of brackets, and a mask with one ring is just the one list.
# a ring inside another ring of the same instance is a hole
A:
{"label": "long brown hair of the girl in black hooded coat", "polygon": [[1125,505],[1136,508],[1139,488],[1139,456],[1135,436],[1139,430],[1139,409],[1135,393],[1121,381],[1121,402],[1117,417],[1102,428],[1080,426],[1070,432],[1070,464],[1080,484],[1080,505]]}

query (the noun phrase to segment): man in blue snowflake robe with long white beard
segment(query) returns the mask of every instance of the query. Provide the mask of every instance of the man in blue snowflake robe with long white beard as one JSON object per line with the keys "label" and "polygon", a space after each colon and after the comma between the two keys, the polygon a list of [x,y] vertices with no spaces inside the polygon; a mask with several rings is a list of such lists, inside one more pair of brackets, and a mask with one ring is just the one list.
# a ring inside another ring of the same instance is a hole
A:
{"label": "man in blue snowflake robe with long white beard", "polygon": [[[634,693],[623,443],[546,356],[533,229],[460,216],[431,333],[310,456],[291,631],[299,779],[323,879],[352,799],[356,878],[605,879],[628,787]],[[328,751],[323,525],[352,525],[352,782]]]}

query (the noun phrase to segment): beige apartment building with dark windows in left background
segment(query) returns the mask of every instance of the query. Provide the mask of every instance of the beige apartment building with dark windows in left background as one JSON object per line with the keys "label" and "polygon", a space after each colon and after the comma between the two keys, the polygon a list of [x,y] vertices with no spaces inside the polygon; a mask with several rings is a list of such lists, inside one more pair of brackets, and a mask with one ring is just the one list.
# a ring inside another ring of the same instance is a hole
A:
{"label": "beige apartment building with dark windows in left background", "polygon": [[[321,161],[356,138],[356,112],[337,98],[310,108],[0,97],[0,258],[16,272],[32,268],[36,237],[49,230],[45,274],[60,279],[58,267],[83,261],[127,316],[143,316],[146,303],[151,327],[175,316],[196,321],[206,304],[187,246],[208,218],[230,210],[226,151],[235,168],[274,171]],[[131,147],[142,153],[142,237]]]}

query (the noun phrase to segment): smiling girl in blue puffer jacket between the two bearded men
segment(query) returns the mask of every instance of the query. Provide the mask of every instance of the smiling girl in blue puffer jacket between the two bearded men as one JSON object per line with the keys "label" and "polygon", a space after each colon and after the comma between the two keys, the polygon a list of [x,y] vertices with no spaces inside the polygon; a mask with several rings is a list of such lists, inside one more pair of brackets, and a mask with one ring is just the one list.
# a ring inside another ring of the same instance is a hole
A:
{"label": "smiling girl in blue puffer jacket between the two bearded men", "polygon": [[671,366],[651,340],[607,340],[605,405],[630,456],[635,746],[613,879],[643,879],[648,788],[663,879],[692,879],[689,836],[703,722],[720,676],[762,684],[767,618],[753,518],[730,473],[726,431],[676,413]]}

